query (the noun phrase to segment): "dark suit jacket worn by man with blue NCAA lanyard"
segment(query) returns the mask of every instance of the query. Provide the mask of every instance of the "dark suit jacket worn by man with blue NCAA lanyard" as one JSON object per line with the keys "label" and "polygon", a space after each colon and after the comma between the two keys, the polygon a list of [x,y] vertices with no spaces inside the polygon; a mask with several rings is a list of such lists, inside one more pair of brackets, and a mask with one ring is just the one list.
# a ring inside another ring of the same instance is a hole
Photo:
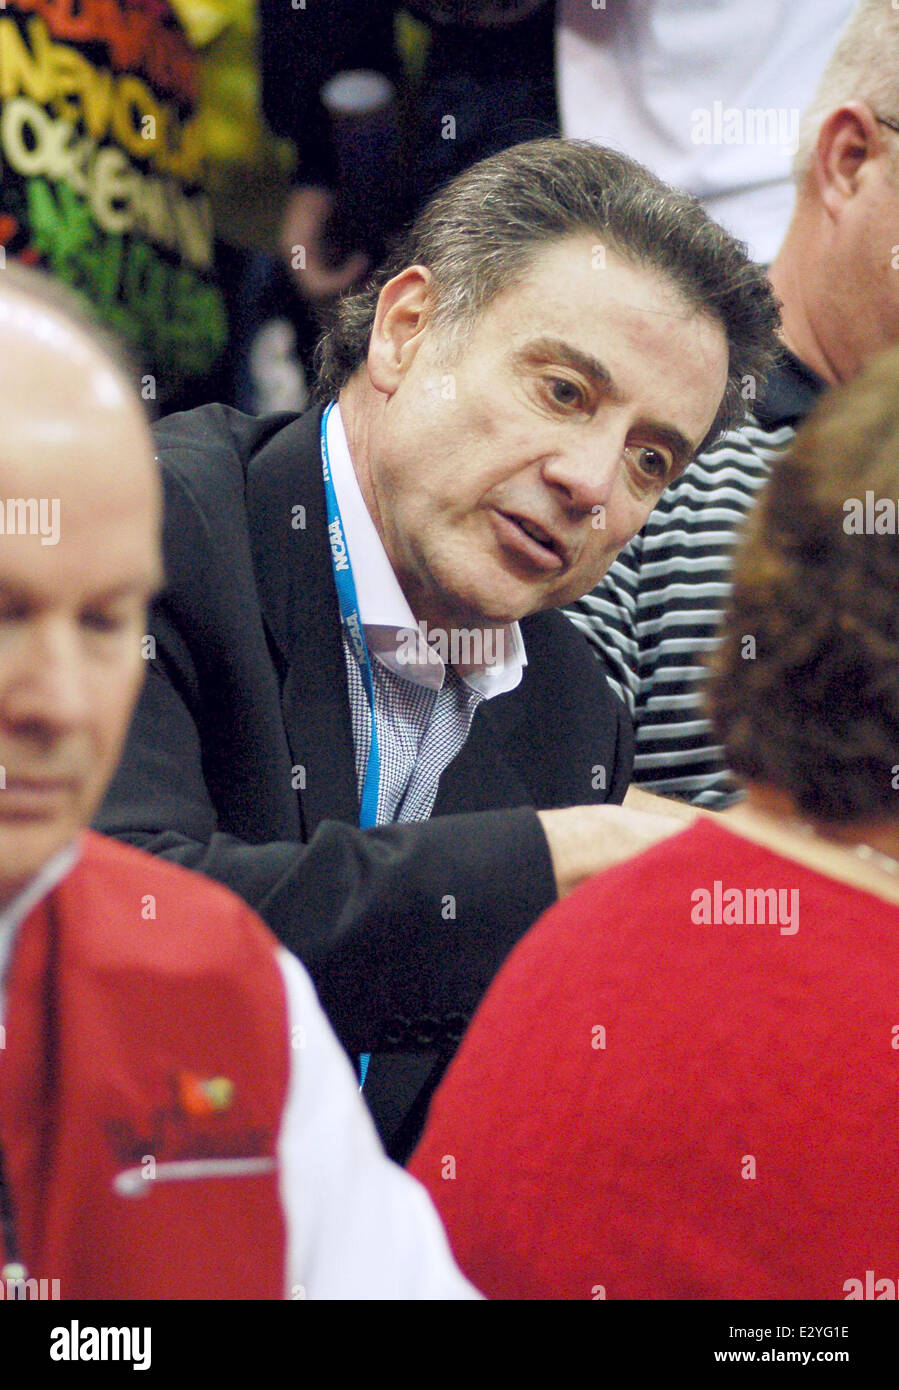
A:
{"label": "dark suit jacket worn by man with blue NCAA lanyard", "polygon": [[350,1054],[402,1054],[375,1056],[365,1086],[400,1154],[435,1058],[554,898],[532,808],[620,802],[632,735],[584,637],[535,614],[521,685],[478,708],[434,819],[357,828],[320,420],[203,406],[157,425],[167,588],[96,826],[233,888],[307,966]]}

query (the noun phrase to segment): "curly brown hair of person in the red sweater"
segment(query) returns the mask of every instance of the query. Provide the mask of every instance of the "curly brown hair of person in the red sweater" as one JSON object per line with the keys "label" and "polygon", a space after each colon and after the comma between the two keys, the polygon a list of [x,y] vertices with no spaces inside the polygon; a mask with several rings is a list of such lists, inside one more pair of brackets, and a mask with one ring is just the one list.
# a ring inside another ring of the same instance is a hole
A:
{"label": "curly brown hair of person in the red sweater", "polygon": [[729,766],[824,823],[899,813],[899,539],[895,510],[892,534],[859,534],[866,493],[899,509],[899,349],[775,463],[710,660]]}

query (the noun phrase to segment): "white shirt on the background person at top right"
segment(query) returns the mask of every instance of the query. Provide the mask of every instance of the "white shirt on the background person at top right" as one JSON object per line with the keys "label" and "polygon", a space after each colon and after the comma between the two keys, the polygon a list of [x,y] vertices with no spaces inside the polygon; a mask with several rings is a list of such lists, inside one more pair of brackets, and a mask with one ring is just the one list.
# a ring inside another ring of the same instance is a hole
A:
{"label": "white shirt on the background person at top right", "polygon": [[770,263],[799,117],[852,0],[559,0],[563,133],[622,150]]}

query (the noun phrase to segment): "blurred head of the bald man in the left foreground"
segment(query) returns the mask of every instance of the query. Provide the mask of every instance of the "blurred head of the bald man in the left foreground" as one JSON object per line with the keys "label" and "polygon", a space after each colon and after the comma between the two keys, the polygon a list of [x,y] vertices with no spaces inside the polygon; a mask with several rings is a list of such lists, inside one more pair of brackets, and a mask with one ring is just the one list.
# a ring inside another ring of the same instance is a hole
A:
{"label": "blurred head of the bald man in the left foreground", "polygon": [[0,903],[96,810],[161,582],[149,427],[108,342],[0,271]]}

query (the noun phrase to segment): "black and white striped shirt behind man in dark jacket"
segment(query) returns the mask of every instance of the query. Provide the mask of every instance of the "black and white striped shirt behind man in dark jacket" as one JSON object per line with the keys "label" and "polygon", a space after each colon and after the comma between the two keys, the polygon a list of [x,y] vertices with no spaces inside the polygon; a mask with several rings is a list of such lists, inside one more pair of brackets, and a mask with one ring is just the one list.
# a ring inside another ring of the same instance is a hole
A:
{"label": "black and white striped shirt behind man in dark jacket", "polygon": [[718,642],[742,524],[823,388],[786,353],[742,425],[684,470],[600,584],[567,610],[634,716],[634,781],[648,791],[713,809],[736,799],[704,714],[702,663]]}

